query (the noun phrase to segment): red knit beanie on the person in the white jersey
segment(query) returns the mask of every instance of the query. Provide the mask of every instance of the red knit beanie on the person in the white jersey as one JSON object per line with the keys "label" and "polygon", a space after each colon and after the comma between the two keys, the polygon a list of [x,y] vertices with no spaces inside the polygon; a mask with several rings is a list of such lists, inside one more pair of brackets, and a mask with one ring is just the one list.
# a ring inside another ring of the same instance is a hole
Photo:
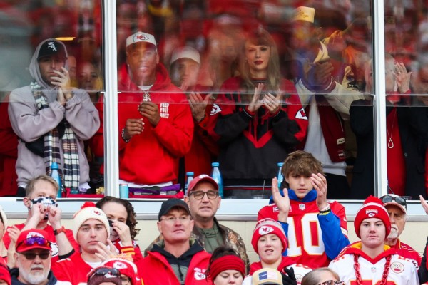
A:
{"label": "red knit beanie on the person in the white jersey", "polygon": [[362,221],[370,218],[380,219],[384,223],[385,228],[387,229],[387,234],[385,237],[387,237],[389,232],[391,232],[389,214],[387,209],[383,207],[382,201],[377,197],[373,197],[372,195],[365,199],[364,204],[362,204],[362,207],[358,210],[357,215],[355,216],[354,227],[357,237],[360,237],[360,226]]}

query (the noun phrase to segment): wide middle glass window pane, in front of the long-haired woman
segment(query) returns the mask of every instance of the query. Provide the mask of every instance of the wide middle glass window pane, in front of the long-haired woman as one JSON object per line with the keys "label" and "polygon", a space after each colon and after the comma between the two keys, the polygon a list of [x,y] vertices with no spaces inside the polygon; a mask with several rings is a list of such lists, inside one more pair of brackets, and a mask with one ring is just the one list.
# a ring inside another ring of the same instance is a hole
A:
{"label": "wide middle glass window pane, in front of the long-haired woman", "polygon": [[322,162],[329,198],[351,197],[350,105],[372,106],[370,1],[117,7],[121,180],[183,185],[186,172],[220,162],[225,197],[261,197],[277,163],[307,150]]}

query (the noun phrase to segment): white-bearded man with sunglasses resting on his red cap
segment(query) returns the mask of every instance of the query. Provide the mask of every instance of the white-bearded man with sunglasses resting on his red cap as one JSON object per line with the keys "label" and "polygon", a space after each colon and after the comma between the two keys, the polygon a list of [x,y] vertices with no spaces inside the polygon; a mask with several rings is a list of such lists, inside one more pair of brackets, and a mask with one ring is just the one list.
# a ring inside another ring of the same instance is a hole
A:
{"label": "white-bearded man with sunglasses resting on his red cap", "polygon": [[42,229],[28,229],[16,239],[16,267],[10,269],[13,285],[54,285],[51,271],[51,242]]}

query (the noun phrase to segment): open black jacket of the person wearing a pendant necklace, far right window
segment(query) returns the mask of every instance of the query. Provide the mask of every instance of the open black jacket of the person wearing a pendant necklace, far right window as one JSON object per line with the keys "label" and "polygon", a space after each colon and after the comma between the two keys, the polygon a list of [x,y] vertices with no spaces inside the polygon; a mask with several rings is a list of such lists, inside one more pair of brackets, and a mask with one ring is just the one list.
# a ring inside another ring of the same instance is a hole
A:
{"label": "open black jacket of the person wearing a pendant necklace, far right window", "polygon": [[[406,169],[405,195],[414,198],[425,194],[425,148],[428,132],[426,107],[417,105],[397,108],[399,135]],[[392,107],[387,107],[387,114]],[[357,158],[353,169],[351,199],[365,199],[374,195],[374,121],[370,101],[356,100],[350,108],[350,125],[357,138]],[[386,169],[387,165],[379,165]]]}

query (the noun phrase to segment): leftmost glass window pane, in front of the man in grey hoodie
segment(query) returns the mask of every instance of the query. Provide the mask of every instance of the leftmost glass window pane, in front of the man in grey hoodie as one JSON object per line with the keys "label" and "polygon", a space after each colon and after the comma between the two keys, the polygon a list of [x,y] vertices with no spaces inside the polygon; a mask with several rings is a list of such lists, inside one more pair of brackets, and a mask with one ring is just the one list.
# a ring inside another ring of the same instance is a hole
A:
{"label": "leftmost glass window pane, in front of the man in grey hoodie", "polygon": [[[7,1],[0,10],[0,196],[59,165],[63,197],[95,192],[89,145],[102,103],[100,1]],[[8,111],[9,110],[9,111]]]}

